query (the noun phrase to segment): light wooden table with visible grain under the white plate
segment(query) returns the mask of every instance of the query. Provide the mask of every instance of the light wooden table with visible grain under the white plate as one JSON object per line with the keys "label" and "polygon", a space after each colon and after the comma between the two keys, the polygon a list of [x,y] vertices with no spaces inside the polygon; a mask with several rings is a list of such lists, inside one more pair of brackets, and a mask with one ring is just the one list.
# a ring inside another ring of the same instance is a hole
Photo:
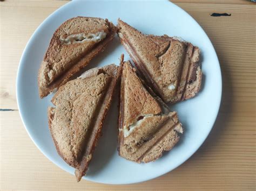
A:
{"label": "light wooden table with visible grain under the white plate", "polygon": [[206,142],[183,165],[157,179],[120,186],[77,183],[38,150],[19,117],[15,80],[23,49],[37,26],[66,2],[0,2],[0,189],[255,189],[256,3],[173,2],[197,20],[217,51],[223,75],[219,116]]}

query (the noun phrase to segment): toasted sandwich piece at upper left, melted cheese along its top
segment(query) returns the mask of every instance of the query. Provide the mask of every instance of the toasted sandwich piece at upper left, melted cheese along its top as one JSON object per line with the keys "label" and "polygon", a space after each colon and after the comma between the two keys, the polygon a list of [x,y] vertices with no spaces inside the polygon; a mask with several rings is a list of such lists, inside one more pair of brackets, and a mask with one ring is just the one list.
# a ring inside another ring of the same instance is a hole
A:
{"label": "toasted sandwich piece at upper left, melted cheese along its top", "polygon": [[75,17],[60,25],[39,68],[39,96],[47,96],[88,65],[115,33],[116,27],[101,18]]}

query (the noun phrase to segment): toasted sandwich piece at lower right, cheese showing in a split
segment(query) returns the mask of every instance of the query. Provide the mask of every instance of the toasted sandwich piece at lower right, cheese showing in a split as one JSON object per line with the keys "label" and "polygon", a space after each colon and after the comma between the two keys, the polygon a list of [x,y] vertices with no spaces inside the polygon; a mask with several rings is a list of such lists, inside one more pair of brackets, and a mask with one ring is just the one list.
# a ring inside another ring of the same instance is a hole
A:
{"label": "toasted sandwich piece at lower right, cheese showing in a split", "polygon": [[131,161],[150,162],[171,150],[183,128],[177,113],[143,86],[130,61],[121,65],[118,153]]}

